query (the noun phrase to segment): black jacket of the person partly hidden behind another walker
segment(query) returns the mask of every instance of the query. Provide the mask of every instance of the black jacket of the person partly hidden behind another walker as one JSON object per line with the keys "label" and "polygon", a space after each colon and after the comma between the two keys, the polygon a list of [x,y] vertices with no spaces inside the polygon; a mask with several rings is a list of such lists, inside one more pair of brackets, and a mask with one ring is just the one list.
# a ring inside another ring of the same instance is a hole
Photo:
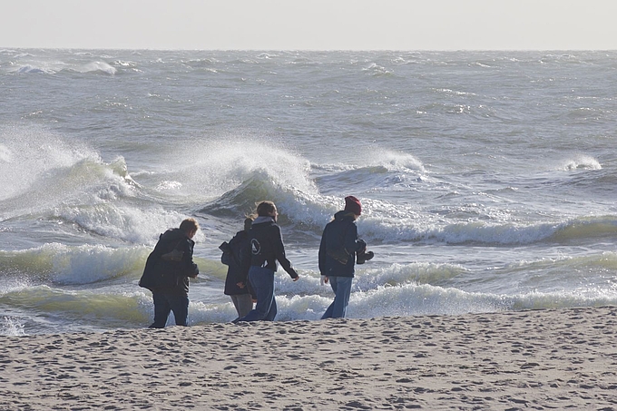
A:
{"label": "black jacket of the person partly hidden behind another walker", "polygon": [[[223,250],[221,258],[223,264],[227,264],[227,278],[225,279],[225,290],[227,296],[236,296],[239,294],[249,294],[247,275],[249,270],[242,265],[242,260],[245,255],[250,253],[249,232],[245,230],[238,231],[235,236]],[[243,282],[244,288],[240,289],[238,283]]]}

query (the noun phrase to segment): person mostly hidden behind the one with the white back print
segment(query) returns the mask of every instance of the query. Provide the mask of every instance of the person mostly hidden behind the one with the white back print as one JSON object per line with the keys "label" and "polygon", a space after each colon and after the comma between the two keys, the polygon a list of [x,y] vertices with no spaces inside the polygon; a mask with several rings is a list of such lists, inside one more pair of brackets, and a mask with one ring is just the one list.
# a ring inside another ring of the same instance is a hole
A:
{"label": "person mostly hidden behind the one with the white back print", "polygon": [[228,266],[223,293],[230,296],[238,318],[253,309],[253,298],[248,287],[249,271],[242,265],[243,254],[250,252],[249,230],[252,223],[251,218],[244,220],[244,230],[238,231],[229,243],[224,242],[220,247],[223,250],[221,261]]}

